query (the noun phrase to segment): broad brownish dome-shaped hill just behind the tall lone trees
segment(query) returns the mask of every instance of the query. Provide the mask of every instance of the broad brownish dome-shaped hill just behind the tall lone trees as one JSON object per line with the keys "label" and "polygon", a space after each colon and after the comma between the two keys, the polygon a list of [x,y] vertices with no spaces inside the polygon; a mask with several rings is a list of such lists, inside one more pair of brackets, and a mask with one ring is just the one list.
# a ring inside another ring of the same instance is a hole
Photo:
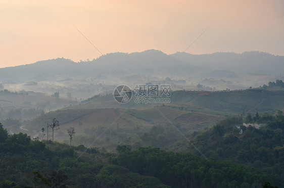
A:
{"label": "broad brownish dome-shaped hill just behind the tall lone trees", "polygon": [[[25,128],[33,136],[40,137],[41,128],[46,128],[46,124],[50,124],[55,117],[60,121],[60,130],[56,131],[55,140],[67,142],[69,136],[66,129],[74,127],[76,134],[73,143],[75,145],[88,146],[96,140],[97,147],[105,147],[112,151],[118,143],[130,144],[130,140],[132,144],[140,143],[147,146],[148,144],[141,140],[143,139],[141,136],[151,131],[155,126],[171,129],[167,119],[161,116],[158,110],[185,132],[212,126],[224,118],[223,116],[188,112],[169,107],[156,107],[147,110],[65,109],[36,117]],[[178,136],[173,137],[174,140],[177,138]],[[166,148],[166,146],[164,147]]]}

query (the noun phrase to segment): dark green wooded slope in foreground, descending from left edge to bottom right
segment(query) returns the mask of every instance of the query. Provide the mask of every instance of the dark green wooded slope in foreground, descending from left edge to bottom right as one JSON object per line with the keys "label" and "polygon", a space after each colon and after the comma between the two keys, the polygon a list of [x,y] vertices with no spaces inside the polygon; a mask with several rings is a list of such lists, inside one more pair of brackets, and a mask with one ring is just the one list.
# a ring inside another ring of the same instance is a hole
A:
{"label": "dark green wooded slope in foreground, descending from left edge to bottom right", "polygon": [[0,125],[0,187],[260,187],[281,178],[256,168],[158,148],[117,153],[9,135]]}

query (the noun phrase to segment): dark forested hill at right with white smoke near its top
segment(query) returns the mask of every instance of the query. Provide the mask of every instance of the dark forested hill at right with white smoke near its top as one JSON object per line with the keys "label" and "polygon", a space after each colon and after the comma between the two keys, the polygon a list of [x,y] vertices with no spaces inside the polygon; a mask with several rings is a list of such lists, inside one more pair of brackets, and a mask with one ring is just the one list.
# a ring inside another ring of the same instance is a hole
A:
{"label": "dark forested hill at right with white smoke near its top", "polygon": [[[196,132],[193,144],[208,158],[253,166],[283,180],[283,131],[284,116],[280,110],[276,116],[248,114],[244,118],[229,117],[208,130]],[[198,155],[195,147],[188,145],[188,150]],[[284,182],[278,185],[283,187]]]}

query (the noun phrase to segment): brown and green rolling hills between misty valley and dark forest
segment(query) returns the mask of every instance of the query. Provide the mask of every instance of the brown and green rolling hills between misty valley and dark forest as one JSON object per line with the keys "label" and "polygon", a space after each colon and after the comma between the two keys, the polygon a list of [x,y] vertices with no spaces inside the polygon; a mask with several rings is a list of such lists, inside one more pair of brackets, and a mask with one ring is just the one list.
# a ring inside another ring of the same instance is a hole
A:
{"label": "brown and green rolling hills between misty valley and dark forest", "polygon": [[[30,134],[40,137],[40,129],[55,117],[61,124],[55,139],[62,142],[68,142],[66,129],[74,127],[75,145],[96,142],[98,147],[114,150],[117,144],[136,143],[138,146],[157,145],[167,149],[180,136],[171,123],[184,134],[190,134],[211,127],[226,116],[245,116],[256,112],[273,114],[284,107],[284,91],[263,89],[174,91],[170,99],[171,103],[164,105],[132,106],[132,101],[124,106],[115,102],[112,95],[97,96],[80,105],[38,116],[29,121],[25,128]],[[160,135],[158,140],[147,139],[148,135],[155,134]]]}

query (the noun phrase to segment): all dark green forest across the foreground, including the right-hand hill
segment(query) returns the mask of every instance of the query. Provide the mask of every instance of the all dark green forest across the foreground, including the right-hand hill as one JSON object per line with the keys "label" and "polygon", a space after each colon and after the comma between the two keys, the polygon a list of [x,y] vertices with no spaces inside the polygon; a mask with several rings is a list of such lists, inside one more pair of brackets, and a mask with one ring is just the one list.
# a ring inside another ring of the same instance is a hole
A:
{"label": "all dark green forest across the foreground, including the right-hand hill", "polygon": [[108,153],[31,140],[27,134],[9,134],[1,124],[0,187],[260,187],[264,182],[280,186],[283,129],[280,110],[275,116],[228,117],[196,134],[193,141],[204,158],[189,143],[188,152],[182,153],[152,147],[132,151],[127,145]]}

